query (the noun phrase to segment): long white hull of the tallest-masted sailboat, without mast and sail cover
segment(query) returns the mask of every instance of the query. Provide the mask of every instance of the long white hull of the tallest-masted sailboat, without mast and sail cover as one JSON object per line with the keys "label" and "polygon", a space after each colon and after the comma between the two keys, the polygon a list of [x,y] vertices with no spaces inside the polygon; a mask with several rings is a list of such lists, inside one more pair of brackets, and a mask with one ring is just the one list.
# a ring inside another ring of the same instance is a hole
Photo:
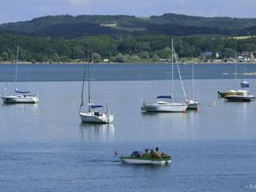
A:
{"label": "long white hull of the tallest-masted sailboat, without mast and sail cover", "polygon": [[184,112],[186,111],[187,107],[188,107],[187,104],[157,102],[155,104],[144,104],[141,107],[141,110],[152,111],[152,112]]}

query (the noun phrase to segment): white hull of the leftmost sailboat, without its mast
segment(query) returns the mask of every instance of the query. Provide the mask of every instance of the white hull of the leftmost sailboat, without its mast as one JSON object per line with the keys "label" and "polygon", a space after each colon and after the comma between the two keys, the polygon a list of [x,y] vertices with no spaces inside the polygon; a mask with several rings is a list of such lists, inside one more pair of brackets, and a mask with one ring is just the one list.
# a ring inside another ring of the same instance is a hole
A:
{"label": "white hull of the leftmost sailboat, without its mast", "polygon": [[16,103],[37,103],[39,101],[37,95],[11,95],[2,96],[4,103],[16,104]]}

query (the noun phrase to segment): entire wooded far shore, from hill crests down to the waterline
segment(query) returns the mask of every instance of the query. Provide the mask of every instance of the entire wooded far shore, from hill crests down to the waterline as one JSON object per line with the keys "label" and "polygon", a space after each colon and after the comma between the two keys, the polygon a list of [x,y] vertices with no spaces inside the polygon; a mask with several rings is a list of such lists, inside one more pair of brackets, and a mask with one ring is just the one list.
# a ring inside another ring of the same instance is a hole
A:
{"label": "entire wooded far shore, from hill crests down to the waterline", "polygon": [[[166,63],[171,39],[181,63],[255,62],[256,19],[167,13],[54,15],[0,25],[0,63]],[[193,58],[193,60],[192,60]]]}

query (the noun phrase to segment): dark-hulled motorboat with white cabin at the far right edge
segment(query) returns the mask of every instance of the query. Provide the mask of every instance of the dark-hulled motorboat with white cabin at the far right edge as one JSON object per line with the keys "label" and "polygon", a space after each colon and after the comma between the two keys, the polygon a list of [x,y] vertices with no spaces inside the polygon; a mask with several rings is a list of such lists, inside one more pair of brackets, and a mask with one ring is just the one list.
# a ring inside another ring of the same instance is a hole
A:
{"label": "dark-hulled motorboat with white cabin at the far right edge", "polygon": [[224,98],[227,101],[244,101],[250,102],[255,101],[254,95],[250,94],[247,90],[238,90],[236,94],[226,95]]}

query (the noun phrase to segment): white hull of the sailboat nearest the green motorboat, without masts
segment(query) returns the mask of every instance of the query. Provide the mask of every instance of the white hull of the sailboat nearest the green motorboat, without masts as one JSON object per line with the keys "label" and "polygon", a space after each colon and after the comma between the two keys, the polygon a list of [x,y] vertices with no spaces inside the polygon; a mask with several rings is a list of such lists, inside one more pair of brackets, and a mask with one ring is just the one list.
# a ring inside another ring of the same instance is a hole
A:
{"label": "white hull of the sailboat nearest the green motorboat, without masts", "polygon": [[107,115],[106,113],[95,113],[95,112],[80,112],[79,113],[81,122],[85,123],[111,123],[114,119],[114,115]]}

